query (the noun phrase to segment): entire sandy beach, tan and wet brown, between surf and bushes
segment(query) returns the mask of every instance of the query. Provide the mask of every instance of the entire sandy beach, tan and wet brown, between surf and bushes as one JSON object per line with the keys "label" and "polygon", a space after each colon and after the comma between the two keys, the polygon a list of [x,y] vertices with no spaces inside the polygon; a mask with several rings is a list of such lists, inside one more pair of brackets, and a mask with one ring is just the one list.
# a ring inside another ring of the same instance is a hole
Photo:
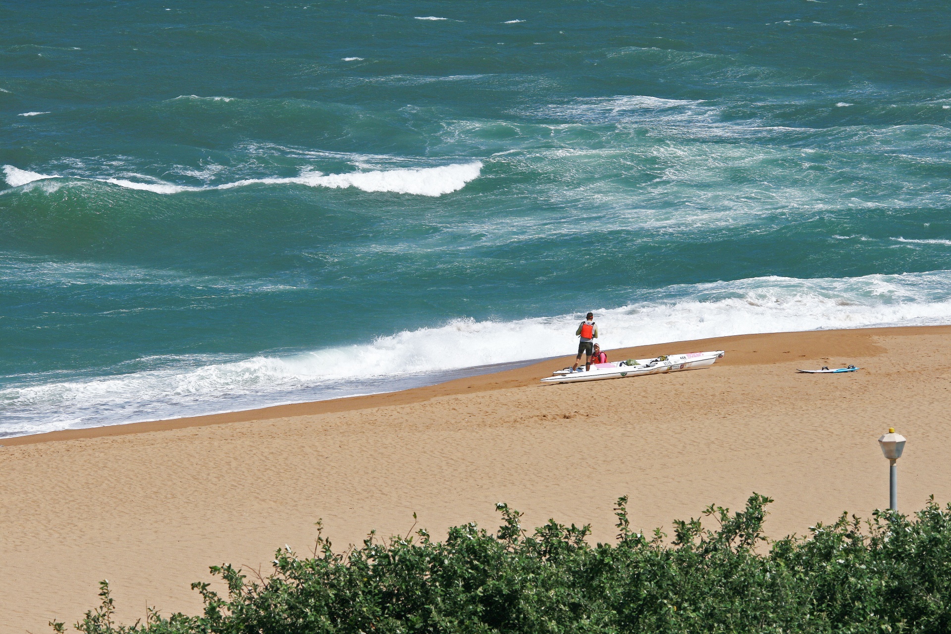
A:
{"label": "entire sandy beach, tan and wet brown, between surf and bushes", "polygon": [[[0,440],[0,632],[49,631],[108,579],[127,621],[197,612],[192,581],[275,548],[371,529],[435,535],[494,504],[592,524],[631,496],[635,527],[765,493],[774,537],[887,505],[876,438],[908,437],[902,510],[951,500],[951,327],[735,336],[609,353],[727,351],[696,372],[542,385],[550,360],[396,394]],[[854,363],[858,373],[800,375]]]}

